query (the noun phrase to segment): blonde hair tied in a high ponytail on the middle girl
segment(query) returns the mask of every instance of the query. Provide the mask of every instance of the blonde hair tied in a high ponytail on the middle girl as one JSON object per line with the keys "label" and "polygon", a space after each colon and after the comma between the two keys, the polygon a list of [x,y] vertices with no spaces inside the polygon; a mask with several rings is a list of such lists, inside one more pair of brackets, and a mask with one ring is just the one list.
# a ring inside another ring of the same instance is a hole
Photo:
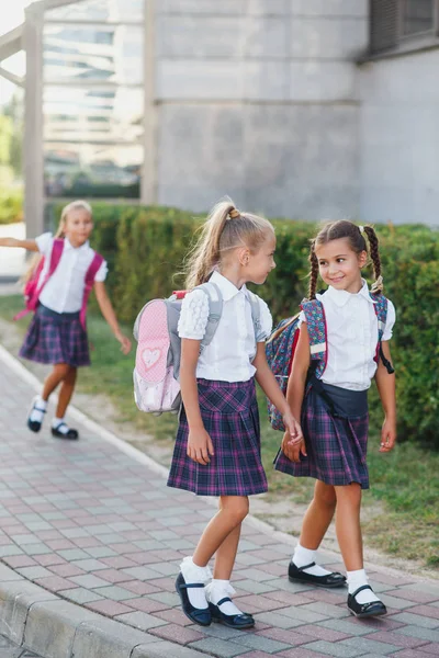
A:
{"label": "blonde hair tied in a high ponytail on the middle girl", "polygon": [[221,201],[211,211],[185,265],[185,285],[193,288],[206,282],[222,257],[237,247],[255,252],[274,229],[268,219],[241,213],[232,200]]}

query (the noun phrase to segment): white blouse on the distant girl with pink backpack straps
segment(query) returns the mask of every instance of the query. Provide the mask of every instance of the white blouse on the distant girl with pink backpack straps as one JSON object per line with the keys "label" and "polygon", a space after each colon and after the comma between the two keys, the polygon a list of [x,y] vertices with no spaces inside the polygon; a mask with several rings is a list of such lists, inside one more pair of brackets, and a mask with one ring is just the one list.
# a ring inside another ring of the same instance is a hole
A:
{"label": "white blouse on the distant girl with pink backpack straps", "polygon": [[[50,264],[54,237],[50,232],[45,232],[35,238],[35,241],[38,251],[45,257],[43,272],[38,281],[41,283]],[[81,247],[72,247],[69,240],[65,238],[58,266],[40,295],[40,302],[43,306],[56,313],[76,313],[81,309],[86,274],[91,265],[94,253],[94,249],[90,247],[88,241],[81,245]],[[106,261],[103,261],[94,281],[105,281],[106,273]]]}

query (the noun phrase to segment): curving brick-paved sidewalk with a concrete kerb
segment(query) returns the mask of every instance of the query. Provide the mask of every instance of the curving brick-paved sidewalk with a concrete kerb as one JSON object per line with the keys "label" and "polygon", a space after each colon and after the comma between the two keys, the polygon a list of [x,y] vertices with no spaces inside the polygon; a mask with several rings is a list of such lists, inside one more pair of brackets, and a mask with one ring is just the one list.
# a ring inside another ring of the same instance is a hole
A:
{"label": "curving brick-paved sidewalk with a concrete kerb", "polygon": [[233,582],[256,628],[191,624],[173,581],[213,507],[79,412],[79,442],[54,440],[49,418],[33,435],[34,392],[0,349],[0,633],[20,646],[44,658],[439,656],[437,581],[370,567],[390,614],[359,622],[346,590],[290,583],[292,540],[252,520]]}

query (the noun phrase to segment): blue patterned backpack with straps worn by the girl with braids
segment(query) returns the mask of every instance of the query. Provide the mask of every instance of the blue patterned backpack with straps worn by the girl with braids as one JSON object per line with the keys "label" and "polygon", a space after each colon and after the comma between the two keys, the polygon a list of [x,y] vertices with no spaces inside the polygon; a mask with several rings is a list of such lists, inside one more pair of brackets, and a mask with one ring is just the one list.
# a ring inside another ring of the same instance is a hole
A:
{"label": "blue patterned backpack with straps worn by the girl with braids", "polygon": [[[385,359],[381,348],[381,340],[387,318],[387,299],[381,294],[369,294],[375,302],[373,308],[378,318],[375,361],[378,363],[381,356],[387,372],[392,373],[394,372],[392,364]],[[309,353],[312,361],[309,371],[317,379],[322,379],[328,360],[325,310],[322,302],[318,299],[304,299],[301,304],[301,308],[306,317],[306,326],[309,336]],[[288,382],[300,334],[299,317],[300,314],[293,318],[281,320],[266,344],[267,362],[273,372],[283,395],[286,394]],[[285,431],[282,415],[270,400],[268,400],[268,416],[271,427],[274,430]]]}

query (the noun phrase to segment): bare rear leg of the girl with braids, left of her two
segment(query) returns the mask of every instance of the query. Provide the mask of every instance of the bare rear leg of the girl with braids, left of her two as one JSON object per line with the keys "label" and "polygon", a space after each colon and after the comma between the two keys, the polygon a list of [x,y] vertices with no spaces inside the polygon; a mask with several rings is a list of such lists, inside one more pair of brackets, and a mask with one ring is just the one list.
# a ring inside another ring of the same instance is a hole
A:
{"label": "bare rear leg of the girl with braids, left of her two", "polygon": [[336,504],[334,486],[317,480],[314,487],[314,498],[303,519],[301,546],[317,551],[333,520]]}

